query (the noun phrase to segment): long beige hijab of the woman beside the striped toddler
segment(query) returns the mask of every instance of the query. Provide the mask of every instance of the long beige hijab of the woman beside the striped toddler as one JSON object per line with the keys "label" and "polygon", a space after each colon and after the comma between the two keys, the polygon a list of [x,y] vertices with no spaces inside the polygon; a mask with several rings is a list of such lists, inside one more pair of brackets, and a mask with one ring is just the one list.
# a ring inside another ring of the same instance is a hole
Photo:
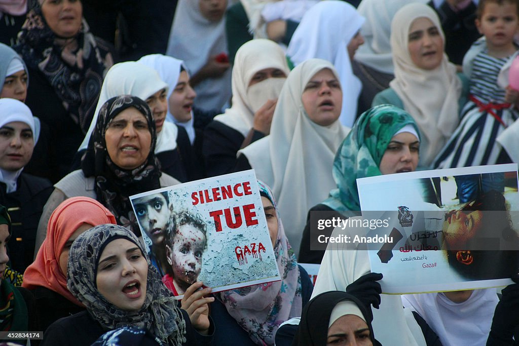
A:
{"label": "long beige hijab of the woman beside the striped toddler", "polygon": [[420,17],[431,20],[445,42],[440,20],[432,8],[419,3],[402,7],[391,23],[395,79],[389,85],[418,124],[420,164],[428,166],[458,125],[461,81],[456,75],[456,67],[448,62],[445,54],[440,66],[434,70],[423,70],[414,64],[407,47],[409,29]]}

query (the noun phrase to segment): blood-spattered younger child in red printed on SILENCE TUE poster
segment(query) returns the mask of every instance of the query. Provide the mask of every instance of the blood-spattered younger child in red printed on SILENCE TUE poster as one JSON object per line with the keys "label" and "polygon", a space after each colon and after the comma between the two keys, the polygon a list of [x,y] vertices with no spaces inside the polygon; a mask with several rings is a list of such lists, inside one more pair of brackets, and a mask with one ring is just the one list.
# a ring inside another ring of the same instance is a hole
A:
{"label": "blood-spattered younger child in red printed on SILENCE TUE poster", "polygon": [[175,296],[183,294],[198,279],[207,244],[206,231],[203,220],[188,212],[177,214],[167,228],[166,257],[173,275],[163,276],[162,282]]}

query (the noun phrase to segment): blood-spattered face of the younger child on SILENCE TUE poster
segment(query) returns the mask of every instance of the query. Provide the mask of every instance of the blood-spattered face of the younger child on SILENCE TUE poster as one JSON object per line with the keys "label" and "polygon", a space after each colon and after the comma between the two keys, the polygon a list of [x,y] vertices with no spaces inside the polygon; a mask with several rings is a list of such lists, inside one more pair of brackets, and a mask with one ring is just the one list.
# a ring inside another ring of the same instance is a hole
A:
{"label": "blood-spattered face of the younger child on SILENCE TUE poster", "polygon": [[[206,236],[193,225],[182,225],[175,233],[168,262],[173,269],[173,279],[179,286],[196,282],[202,269],[203,248]],[[169,244],[168,244],[169,247]],[[185,288],[187,288],[185,287]]]}

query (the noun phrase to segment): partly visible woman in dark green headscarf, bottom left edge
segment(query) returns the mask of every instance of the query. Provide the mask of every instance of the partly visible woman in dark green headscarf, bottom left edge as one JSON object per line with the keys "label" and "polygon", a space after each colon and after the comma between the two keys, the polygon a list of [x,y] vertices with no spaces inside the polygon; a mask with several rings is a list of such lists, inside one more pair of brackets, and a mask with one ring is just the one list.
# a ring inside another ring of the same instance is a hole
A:
{"label": "partly visible woman in dark green headscarf, bottom left edge", "polygon": [[[35,323],[35,303],[32,294],[22,287],[15,287],[3,280],[9,256],[6,243],[11,237],[11,218],[7,208],[0,205],[0,330],[38,330]],[[26,344],[26,340],[17,340]]]}

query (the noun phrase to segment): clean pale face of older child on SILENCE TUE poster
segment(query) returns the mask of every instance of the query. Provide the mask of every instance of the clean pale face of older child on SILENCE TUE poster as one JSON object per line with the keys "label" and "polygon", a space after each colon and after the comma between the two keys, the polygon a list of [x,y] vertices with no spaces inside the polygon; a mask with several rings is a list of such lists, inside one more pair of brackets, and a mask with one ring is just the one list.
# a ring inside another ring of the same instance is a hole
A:
{"label": "clean pale face of older child on SILENCE TUE poster", "polygon": [[135,200],[135,214],[141,227],[154,245],[164,241],[166,225],[170,217],[168,202],[162,193]]}

